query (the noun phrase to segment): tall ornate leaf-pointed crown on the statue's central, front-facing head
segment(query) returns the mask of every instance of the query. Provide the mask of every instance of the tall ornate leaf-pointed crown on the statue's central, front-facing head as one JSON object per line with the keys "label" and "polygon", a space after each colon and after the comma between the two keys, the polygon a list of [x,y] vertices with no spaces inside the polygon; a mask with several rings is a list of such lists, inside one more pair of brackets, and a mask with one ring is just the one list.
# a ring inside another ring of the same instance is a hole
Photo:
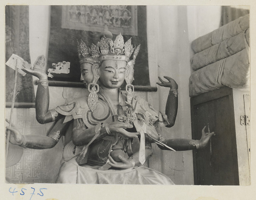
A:
{"label": "tall ornate leaf-pointed crown on the statue's central, front-facing head", "polygon": [[128,41],[124,42],[124,38],[121,33],[116,36],[116,39],[113,42],[112,33],[108,31],[106,26],[104,32],[101,34],[100,41],[97,43],[97,47],[99,51],[100,62],[104,60],[119,60],[128,62],[134,50],[135,52],[137,50],[135,55],[136,58],[140,49],[140,47],[137,49],[133,47],[133,45],[131,44],[131,38]]}

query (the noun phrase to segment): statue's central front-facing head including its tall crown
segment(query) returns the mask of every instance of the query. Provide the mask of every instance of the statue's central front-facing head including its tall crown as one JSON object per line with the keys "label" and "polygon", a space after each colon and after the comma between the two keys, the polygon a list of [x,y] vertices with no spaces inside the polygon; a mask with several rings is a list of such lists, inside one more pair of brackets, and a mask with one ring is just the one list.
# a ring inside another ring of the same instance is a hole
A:
{"label": "statue's central front-facing head including its tall crown", "polygon": [[[99,84],[105,88],[119,88],[126,81],[133,81],[135,58],[140,45],[133,48],[131,38],[124,43],[121,33],[112,41],[111,32],[105,30],[97,43],[99,50],[99,67],[93,68],[94,74],[99,78]],[[135,50],[135,51],[134,51]],[[129,58],[133,55],[133,60]]]}

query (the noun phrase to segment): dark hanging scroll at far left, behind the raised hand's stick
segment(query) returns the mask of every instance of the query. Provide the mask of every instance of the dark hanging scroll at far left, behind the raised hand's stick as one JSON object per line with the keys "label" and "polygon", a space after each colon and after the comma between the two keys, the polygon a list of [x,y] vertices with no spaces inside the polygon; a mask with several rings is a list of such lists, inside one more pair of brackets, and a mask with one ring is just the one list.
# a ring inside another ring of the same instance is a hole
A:
{"label": "dark hanging scroll at far left, behind the raised hand's stick", "polygon": [[[30,62],[29,55],[29,6],[14,6],[5,7],[6,21],[6,61],[12,54],[20,56],[24,61]],[[6,65],[6,107],[11,106],[15,70]],[[32,103],[35,102],[35,93],[33,86],[32,75],[17,74],[16,98],[15,102]]]}

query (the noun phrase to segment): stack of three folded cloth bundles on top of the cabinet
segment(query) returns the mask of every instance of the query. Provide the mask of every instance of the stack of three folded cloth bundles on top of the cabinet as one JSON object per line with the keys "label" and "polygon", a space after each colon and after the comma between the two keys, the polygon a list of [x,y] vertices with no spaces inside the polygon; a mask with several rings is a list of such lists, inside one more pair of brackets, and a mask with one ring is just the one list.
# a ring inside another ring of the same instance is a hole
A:
{"label": "stack of three folded cloth bundles on top of the cabinet", "polygon": [[189,78],[189,96],[198,96],[223,86],[248,87],[249,14],[192,42],[195,55]]}

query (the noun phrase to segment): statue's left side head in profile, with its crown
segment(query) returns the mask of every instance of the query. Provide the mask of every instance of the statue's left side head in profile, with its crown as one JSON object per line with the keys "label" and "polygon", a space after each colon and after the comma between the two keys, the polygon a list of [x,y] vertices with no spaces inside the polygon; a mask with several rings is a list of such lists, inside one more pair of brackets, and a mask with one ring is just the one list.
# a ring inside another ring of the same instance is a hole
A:
{"label": "statue's left side head in profile, with its crown", "polygon": [[83,82],[86,86],[92,83],[94,80],[94,74],[92,68],[99,66],[99,56],[96,45],[92,44],[91,48],[87,47],[86,44],[81,40],[78,42],[77,50],[80,62],[80,70]]}

